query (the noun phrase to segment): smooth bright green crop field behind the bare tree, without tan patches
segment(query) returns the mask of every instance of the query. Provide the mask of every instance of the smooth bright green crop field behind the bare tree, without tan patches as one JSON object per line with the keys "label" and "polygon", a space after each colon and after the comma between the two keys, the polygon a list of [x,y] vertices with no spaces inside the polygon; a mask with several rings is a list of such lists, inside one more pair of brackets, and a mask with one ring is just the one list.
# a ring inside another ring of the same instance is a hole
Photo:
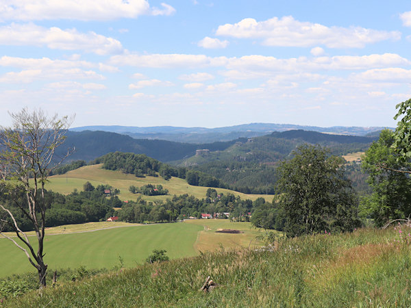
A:
{"label": "smooth bright green crop field behind the bare tree, without tan patches", "polygon": [[[45,261],[55,268],[112,268],[144,262],[153,249],[165,249],[171,259],[197,255],[194,244],[203,227],[184,222],[147,224],[100,231],[46,235]],[[36,242],[35,237],[30,240]],[[0,238],[0,277],[34,271],[25,254]]]}

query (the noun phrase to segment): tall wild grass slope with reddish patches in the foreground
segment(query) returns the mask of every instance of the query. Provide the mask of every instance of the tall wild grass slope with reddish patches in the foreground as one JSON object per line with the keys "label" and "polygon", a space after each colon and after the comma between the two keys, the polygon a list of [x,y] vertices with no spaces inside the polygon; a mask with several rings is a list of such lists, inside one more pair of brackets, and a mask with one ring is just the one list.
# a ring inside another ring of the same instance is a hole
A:
{"label": "tall wild grass slope with reddish patches in the foreground", "polygon": [[[362,229],[114,271],[5,307],[410,307],[408,230]],[[411,230],[410,230],[411,231]],[[403,235],[402,235],[403,234]],[[402,238],[400,237],[402,235]],[[206,277],[218,283],[199,291]]]}

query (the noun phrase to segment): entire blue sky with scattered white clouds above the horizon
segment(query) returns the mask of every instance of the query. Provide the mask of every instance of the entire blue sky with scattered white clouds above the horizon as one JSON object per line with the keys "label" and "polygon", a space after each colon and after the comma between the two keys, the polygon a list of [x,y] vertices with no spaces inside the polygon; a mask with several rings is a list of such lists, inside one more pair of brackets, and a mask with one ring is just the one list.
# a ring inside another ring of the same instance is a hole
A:
{"label": "entire blue sky with scattered white clouds above the horizon", "polygon": [[0,125],[395,127],[410,1],[2,0]]}

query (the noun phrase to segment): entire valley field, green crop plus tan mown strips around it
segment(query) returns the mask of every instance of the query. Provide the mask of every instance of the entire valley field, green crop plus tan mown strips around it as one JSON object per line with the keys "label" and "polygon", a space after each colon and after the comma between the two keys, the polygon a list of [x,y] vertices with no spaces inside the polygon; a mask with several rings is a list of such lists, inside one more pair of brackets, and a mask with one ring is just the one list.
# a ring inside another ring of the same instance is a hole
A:
{"label": "entire valley field, green crop plus tan mown strips around it", "polygon": [[[101,230],[102,229],[102,230]],[[217,229],[237,229],[244,233],[215,233]],[[91,232],[90,232],[91,231]],[[11,235],[12,233],[6,233]],[[249,222],[229,220],[186,220],[166,224],[88,222],[48,228],[45,261],[49,268],[112,268],[121,257],[126,267],[145,261],[153,249],[165,249],[171,259],[191,257],[199,252],[226,250],[262,243]],[[34,235],[28,232],[27,235]],[[30,237],[35,244],[36,238]],[[0,278],[32,271],[24,253],[9,240],[0,238]]]}

